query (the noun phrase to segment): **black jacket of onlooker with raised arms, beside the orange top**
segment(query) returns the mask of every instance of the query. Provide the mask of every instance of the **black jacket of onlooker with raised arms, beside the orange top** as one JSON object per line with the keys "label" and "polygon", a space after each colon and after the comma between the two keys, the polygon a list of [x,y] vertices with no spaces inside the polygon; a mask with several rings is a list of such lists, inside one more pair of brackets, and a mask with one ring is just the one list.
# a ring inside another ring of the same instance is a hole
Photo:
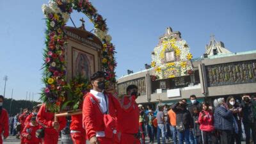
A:
{"label": "black jacket of onlooker with raised arms, beside the orange top", "polygon": [[178,106],[179,102],[173,104],[172,106],[172,110],[174,111],[174,113],[176,113],[176,124],[180,124],[180,122],[183,122],[185,129],[193,128],[194,124],[191,113],[186,108],[177,108]]}

